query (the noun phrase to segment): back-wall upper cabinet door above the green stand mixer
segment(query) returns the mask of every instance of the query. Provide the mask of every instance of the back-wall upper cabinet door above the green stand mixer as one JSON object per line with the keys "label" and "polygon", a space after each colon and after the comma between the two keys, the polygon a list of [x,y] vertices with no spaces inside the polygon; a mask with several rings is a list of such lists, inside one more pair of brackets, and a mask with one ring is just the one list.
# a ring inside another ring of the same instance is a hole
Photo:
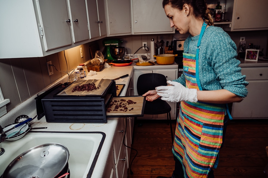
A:
{"label": "back-wall upper cabinet door above the green stand mixer", "polygon": [[107,36],[131,34],[130,0],[105,0]]}

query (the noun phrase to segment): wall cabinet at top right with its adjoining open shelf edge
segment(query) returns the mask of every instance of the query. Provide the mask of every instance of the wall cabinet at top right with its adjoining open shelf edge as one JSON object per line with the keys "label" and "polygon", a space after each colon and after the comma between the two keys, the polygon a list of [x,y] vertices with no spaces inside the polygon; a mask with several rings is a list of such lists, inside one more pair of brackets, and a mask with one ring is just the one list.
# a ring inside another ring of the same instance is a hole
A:
{"label": "wall cabinet at top right with its adjoining open shelf edge", "polygon": [[[217,4],[218,0],[208,0],[207,4]],[[229,22],[215,23],[221,25],[225,31],[249,31],[268,29],[268,1],[267,0],[228,0],[225,1],[226,19]],[[222,11],[224,4],[221,1]],[[214,8],[214,7],[213,7]],[[252,10],[258,13],[254,13]]]}

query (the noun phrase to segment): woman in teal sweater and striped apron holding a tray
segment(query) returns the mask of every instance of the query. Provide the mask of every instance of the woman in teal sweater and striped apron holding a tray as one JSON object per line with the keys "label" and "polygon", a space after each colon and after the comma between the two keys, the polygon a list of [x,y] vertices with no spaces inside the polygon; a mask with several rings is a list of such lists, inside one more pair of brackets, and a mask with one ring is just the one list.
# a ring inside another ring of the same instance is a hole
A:
{"label": "woman in teal sweater and striped apron holding a tray", "polygon": [[180,102],[172,178],[211,178],[228,120],[227,103],[243,100],[248,82],[238,67],[236,44],[213,26],[205,0],[163,0],[163,7],[171,27],[190,34],[184,42],[184,71],[178,79],[167,81],[168,86],[143,96],[147,101],[161,97]]}

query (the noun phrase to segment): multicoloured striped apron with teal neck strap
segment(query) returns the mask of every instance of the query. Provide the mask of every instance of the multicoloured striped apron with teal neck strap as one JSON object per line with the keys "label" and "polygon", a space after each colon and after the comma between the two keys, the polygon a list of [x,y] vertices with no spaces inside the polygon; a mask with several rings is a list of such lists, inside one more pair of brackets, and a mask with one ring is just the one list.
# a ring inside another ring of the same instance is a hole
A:
{"label": "multicoloured striped apron with teal neck strap", "polygon": [[[204,22],[196,55],[183,53],[186,88],[202,90],[198,73],[198,56]],[[207,177],[214,166],[222,144],[225,105],[182,101],[177,119],[172,152],[183,165],[184,177]]]}

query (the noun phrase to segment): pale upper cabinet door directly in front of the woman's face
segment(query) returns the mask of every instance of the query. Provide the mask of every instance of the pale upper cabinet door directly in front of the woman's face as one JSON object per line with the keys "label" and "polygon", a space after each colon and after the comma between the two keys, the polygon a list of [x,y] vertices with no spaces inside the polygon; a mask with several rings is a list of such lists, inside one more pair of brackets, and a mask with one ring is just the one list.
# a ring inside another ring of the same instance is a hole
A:
{"label": "pale upper cabinet door directly in front of the woman's face", "polygon": [[162,7],[162,0],[131,0],[132,33],[175,33]]}

